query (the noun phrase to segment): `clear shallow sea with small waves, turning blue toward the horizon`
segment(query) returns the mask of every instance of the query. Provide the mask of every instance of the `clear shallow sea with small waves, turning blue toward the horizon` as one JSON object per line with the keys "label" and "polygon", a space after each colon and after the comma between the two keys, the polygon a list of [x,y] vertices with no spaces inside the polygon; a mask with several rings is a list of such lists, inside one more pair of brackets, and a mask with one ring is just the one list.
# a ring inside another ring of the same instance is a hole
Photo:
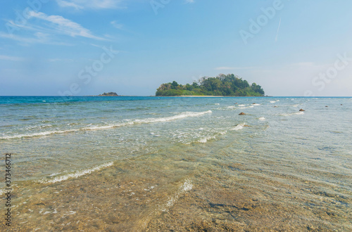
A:
{"label": "clear shallow sea with small waves, turning blue toward the horizon", "polygon": [[0,231],[352,231],[351,115],[342,97],[1,96]]}

